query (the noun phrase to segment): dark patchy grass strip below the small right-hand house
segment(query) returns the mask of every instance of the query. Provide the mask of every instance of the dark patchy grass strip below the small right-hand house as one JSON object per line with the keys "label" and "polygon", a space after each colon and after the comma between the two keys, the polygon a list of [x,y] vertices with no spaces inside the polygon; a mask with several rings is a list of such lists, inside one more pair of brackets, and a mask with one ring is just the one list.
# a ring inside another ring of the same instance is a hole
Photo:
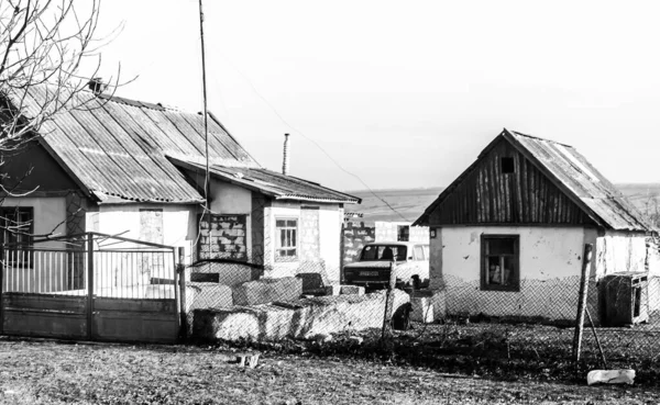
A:
{"label": "dark patchy grass strip below the small right-hand house", "polygon": [[[585,330],[582,361],[571,360],[573,328],[528,324],[414,324],[407,331],[394,331],[384,344],[381,330],[333,335],[332,340],[280,340],[223,342],[239,349],[255,348],[279,352],[362,359],[384,364],[421,367],[441,372],[477,374],[517,381],[582,382],[588,370],[602,369],[591,331]],[[637,382],[660,386],[660,360],[654,342],[657,331],[603,329],[600,331],[608,368],[634,369]],[[356,344],[353,338],[362,339]]]}

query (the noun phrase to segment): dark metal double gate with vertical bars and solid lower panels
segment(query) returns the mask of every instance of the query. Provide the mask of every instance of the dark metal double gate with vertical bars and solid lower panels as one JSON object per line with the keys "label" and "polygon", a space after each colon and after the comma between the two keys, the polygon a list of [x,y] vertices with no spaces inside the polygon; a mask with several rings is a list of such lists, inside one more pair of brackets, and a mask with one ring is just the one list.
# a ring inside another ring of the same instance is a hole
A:
{"label": "dark metal double gate with vertical bars and solid lower panels", "polygon": [[175,342],[175,248],[99,233],[4,246],[0,334]]}

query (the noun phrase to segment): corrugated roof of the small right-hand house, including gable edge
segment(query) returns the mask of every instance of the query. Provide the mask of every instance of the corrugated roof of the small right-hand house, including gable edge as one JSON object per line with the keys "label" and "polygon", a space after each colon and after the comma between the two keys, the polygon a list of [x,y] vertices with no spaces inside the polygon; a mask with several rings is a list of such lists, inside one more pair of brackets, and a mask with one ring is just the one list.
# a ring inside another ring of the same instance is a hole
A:
{"label": "corrugated roof of the small right-hand house, including gable edge", "polygon": [[[601,226],[615,230],[654,232],[654,226],[575,148],[504,130],[481,154],[477,161],[504,137],[541,170],[560,190]],[[453,183],[475,167],[473,164]],[[428,225],[430,213],[451,193],[448,187],[414,225]]]}

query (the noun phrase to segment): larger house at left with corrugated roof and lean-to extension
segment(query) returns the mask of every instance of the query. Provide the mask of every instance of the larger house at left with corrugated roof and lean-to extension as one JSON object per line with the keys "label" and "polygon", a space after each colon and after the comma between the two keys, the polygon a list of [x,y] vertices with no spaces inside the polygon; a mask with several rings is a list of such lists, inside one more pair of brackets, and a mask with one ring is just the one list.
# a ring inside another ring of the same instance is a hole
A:
{"label": "larger house at left with corrugated roof and lean-to extension", "polygon": [[[21,97],[25,114],[37,114],[53,91],[31,87]],[[201,113],[92,91],[76,103],[25,147],[2,153],[2,211],[26,224],[24,243],[100,232],[183,247],[187,261],[245,262],[266,277],[321,269],[339,281],[343,205],[359,199],[263,168],[209,114],[211,213],[202,215]]]}

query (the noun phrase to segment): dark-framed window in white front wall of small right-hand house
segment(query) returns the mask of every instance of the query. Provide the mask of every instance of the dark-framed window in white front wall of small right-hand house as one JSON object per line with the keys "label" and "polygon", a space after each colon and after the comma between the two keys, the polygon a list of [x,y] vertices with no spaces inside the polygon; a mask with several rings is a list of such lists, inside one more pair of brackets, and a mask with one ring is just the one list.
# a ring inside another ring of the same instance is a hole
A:
{"label": "dark-framed window in white front wall of small right-hand house", "polygon": [[481,289],[520,291],[518,235],[482,235]]}

